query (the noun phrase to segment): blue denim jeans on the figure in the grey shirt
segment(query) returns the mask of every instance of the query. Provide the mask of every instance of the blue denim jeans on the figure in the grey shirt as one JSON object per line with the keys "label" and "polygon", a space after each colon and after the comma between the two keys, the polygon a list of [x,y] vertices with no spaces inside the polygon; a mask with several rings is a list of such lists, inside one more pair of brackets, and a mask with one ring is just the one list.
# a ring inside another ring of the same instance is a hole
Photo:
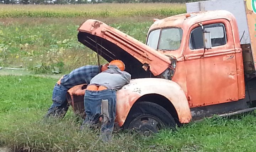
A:
{"label": "blue denim jeans on the figure in the grey shirt", "polygon": [[102,100],[107,100],[108,103],[108,115],[109,118],[107,122],[101,125],[101,138],[103,141],[110,141],[114,121],[116,119],[116,91],[112,89],[102,90],[102,91],[85,91],[84,96],[84,106],[86,117],[84,120],[85,125],[92,125],[98,123],[100,117],[102,117],[101,105]]}

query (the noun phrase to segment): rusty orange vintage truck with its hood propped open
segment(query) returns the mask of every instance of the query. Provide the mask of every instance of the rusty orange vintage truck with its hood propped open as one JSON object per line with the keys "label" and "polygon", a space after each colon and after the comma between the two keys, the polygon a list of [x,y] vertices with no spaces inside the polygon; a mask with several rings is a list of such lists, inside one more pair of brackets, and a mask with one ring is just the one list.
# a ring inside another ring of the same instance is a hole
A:
{"label": "rusty orange vintage truck with its hood propped open", "polygon": [[[256,109],[256,0],[186,5],[186,14],[154,19],[146,44],[93,19],[78,28],[82,44],[132,75],[117,91],[122,128],[155,132]],[[69,90],[75,112],[84,112],[85,88]]]}

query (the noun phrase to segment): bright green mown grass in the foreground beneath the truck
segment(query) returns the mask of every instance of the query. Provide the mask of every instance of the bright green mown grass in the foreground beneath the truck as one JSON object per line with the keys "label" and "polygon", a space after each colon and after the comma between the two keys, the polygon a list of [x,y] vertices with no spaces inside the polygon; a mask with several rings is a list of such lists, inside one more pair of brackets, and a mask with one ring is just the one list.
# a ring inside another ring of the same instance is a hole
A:
{"label": "bright green mown grass in the foreground beneath the truck", "polygon": [[[63,120],[42,121],[51,105],[56,79],[32,76],[0,77],[0,147],[30,151],[241,152],[255,151],[255,113],[212,118],[151,137],[115,132],[102,143],[98,130],[79,130],[81,119],[70,110]],[[77,121],[78,120],[78,121]]]}

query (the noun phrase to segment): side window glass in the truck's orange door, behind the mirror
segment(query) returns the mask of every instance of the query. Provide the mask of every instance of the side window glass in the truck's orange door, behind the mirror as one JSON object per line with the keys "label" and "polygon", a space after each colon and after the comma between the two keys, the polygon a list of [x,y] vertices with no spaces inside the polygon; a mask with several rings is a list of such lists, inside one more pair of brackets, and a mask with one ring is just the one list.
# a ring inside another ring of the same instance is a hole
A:
{"label": "side window glass in the truck's orange door, behind the mirror", "polygon": [[[226,29],[224,24],[217,23],[217,24],[209,24],[204,25],[204,29],[207,32],[210,32],[210,37],[212,41],[212,47],[214,46],[221,46],[225,45],[227,42],[226,39]],[[197,27],[192,30],[190,34],[190,49],[202,49],[203,46],[203,32],[201,27]]]}

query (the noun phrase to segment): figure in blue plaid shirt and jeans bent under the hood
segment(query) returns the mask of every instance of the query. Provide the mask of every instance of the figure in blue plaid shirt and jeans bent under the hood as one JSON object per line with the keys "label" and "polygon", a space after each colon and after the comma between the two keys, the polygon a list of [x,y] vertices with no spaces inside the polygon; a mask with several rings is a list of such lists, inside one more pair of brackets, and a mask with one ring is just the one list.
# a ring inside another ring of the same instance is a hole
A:
{"label": "figure in blue plaid shirt and jeans bent under the hood", "polygon": [[53,103],[45,117],[64,117],[69,108],[68,101],[66,100],[67,91],[79,84],[89,84],[95,75],[108,69],[107,66],[108,64],[100,66],[101,71],[99,71],[98,66],[83,66],[74,69],[69,74],[60,78],[54,86],[52,96]]}

